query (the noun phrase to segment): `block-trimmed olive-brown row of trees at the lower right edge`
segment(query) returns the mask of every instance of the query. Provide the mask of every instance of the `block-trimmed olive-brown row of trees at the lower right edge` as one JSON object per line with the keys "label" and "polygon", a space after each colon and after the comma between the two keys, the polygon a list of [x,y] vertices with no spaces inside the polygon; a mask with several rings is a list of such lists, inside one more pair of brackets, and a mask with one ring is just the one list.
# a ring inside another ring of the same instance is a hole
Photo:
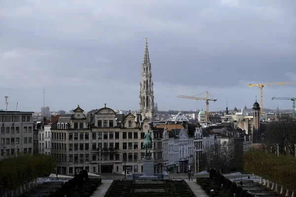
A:
{"label": "block-trimmed olive-brown row of trees at the lower right edge", "polygon": [[292,156],[277,155],[250,150],[243,157],[244,169],[291,190],[296,188],[296,159]]}

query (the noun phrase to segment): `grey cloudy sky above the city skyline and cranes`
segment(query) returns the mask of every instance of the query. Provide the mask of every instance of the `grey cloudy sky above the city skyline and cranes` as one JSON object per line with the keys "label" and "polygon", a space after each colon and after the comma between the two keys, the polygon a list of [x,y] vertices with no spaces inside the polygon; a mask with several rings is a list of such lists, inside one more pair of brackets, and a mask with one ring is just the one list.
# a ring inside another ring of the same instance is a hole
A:
{"label": "grey cloudy sky above the city skyline and cranes", "polygon": [[[296,81],[295,0],[1,0],[0,92],[8,110],[139,108],[145,37],[160,110],[248,107],[249,83]],[[296,85],[263,89],[292,108]],[[205,97],[205,95],[201,95]]]}

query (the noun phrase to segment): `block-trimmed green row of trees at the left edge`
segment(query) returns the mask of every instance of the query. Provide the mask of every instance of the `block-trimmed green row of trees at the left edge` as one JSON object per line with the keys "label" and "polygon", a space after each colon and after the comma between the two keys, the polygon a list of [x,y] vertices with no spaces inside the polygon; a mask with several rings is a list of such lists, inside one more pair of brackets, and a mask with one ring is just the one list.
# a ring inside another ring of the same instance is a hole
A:
{"label": "block-trimmed green row of trees at the left edge", "polygon": [[50,155],[18,154],[15,158],[0,161],[0,195],[51,173],[55,158]]}

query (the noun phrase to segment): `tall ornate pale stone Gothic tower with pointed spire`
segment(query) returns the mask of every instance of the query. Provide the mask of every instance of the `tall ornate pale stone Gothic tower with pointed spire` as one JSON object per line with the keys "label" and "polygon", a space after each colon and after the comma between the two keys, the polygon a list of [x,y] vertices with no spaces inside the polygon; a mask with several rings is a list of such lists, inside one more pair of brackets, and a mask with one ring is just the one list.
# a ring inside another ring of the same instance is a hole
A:
{"label": "tall ornate pale stone Gothic tower with pointed spire", "polygon": [[154,96],[153,96],[153,81],[152,70],[149,60],[149,52],[146,38],[146,47],[144,60],[142,63],[142,80],[140,82],[140,96],[139,96],[139,112],[142,118],[148,118],[149,121],[154,119]]}

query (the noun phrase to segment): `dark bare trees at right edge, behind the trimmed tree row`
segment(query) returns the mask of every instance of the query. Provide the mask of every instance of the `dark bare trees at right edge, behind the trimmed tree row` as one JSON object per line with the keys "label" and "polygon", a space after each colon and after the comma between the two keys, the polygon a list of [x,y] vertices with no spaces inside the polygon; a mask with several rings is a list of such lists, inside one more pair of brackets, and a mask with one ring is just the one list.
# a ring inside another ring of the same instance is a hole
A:
{"label": "dark bare trees at right edge, behind the trimmed tree row", "polygon": [[291,116],[283,116],[270,123],[265,131],[265,140],[269,146],[279,145],[281,154],[295,155],[296,122]]}

